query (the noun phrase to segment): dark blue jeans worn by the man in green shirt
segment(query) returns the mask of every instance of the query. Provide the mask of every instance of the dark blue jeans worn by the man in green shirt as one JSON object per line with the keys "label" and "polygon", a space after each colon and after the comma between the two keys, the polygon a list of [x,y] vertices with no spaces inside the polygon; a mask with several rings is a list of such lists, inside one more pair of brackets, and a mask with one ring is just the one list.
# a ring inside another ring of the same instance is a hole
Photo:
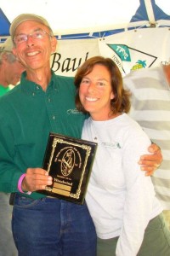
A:
{"label": "dark blue jeans worn by the man in green shirt", "polygon": [[96,255],[96,233],[86,204],[16,195],[12,229],[19,256]]}

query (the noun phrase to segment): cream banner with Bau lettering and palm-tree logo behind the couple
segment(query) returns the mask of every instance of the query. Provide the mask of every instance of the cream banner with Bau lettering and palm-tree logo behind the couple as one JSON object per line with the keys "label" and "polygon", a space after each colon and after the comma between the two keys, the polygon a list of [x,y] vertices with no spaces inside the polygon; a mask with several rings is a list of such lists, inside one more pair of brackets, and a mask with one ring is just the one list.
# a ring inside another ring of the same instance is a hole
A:
{"label": "cream banner with Bau lettering and palm-tree logo behind the couple", "polygon": [[94,55],[110,57],[122,75],[161,62],[166,64],[170,61],[169,28],[143,28],[105,38],[59,40],[51,56],[51,67],[59,75],[74,76],[77,68]]}

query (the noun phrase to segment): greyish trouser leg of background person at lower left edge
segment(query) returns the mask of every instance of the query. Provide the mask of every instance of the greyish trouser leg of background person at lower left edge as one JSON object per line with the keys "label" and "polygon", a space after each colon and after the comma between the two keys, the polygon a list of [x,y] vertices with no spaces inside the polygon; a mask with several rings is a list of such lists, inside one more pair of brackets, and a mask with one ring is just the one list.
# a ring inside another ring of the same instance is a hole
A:
{"label": "greyish trouser leg of background person at lower left edge", "polygon": [[13,207],[9,205],[7,193],[0,193],[0,256],[16,256],[17,249],[11,230]]}

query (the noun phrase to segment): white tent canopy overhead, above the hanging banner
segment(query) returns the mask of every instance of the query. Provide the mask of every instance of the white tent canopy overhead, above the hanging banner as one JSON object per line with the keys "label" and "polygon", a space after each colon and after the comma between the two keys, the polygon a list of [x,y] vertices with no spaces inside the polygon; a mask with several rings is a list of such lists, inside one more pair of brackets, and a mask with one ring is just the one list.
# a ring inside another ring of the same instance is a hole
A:
{"label": "white tent canopy overhead, above the hanging banner", "polygon": [[[130,20],[144,2],[147,20],[130,24]],[[170,20],[155,19],[155,3],[165,14],[170,15],[169,0],[6,0],[1,9],[12,22],[17,15],[34,13],[49,21],[55,35],[67,35],[84,32],[101,32],[126,29],[130,26],[170,26]]]}

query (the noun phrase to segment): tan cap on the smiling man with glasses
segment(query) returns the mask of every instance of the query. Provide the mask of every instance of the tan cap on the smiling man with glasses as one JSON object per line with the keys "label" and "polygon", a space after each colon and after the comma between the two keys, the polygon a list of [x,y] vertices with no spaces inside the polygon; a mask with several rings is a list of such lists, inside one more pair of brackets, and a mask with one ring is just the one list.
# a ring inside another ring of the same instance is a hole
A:
{"label": "tan cap on the smiling man with glasses", "polygon": [[17,16],[11,23],[11,26],[9,28],[9,33],[12,38],[14,38],[14,32],[15,32],[17,26],[19,26],[20,23],[22,23],[23,21],[26,21],[26,20],[36,20],[37,22],[40,22],[43,25],[48,26],[49,29],[52,31],[51,27],[48,24],[48,21],[45,20],[42,16],[32,15],[32,14],[23,14],[23,15]]}

